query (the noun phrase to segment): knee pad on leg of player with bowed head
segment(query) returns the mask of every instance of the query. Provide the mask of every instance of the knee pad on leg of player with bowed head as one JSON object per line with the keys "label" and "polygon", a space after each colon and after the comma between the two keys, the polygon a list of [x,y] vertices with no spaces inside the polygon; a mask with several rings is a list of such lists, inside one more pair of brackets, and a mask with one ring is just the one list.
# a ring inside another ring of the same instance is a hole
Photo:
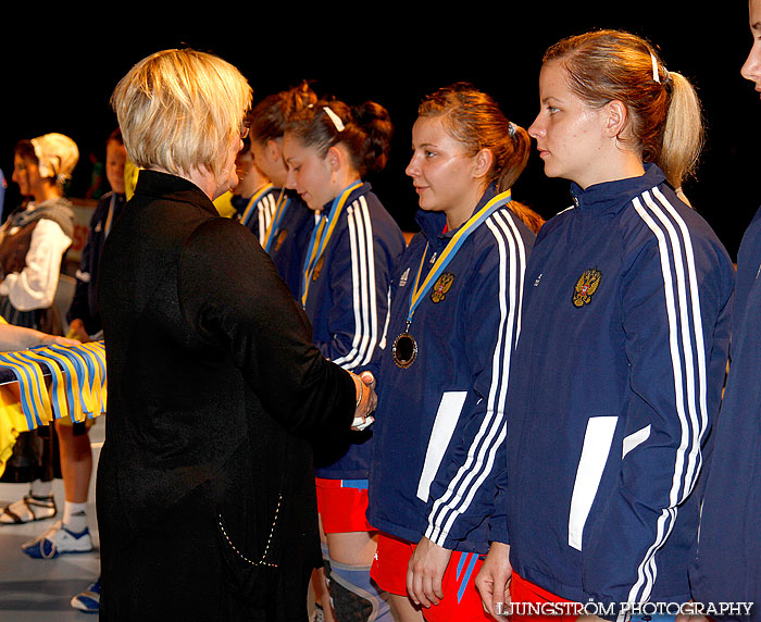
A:
{"label": "knee pad on leg of player with bowed head", "polygon": [[388,595],[370,577],[369,565],[325,560],[330,601],[341,622],[392,622]]}

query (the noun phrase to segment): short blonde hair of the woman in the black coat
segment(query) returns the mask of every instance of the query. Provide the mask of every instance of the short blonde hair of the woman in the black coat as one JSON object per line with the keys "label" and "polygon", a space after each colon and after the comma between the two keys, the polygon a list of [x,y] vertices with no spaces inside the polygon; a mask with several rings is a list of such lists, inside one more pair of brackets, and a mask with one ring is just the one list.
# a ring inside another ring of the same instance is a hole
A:
{"label": "short blonde hair of the woman in the black coat", "polygon": [[116,85],[111,105],[129,159],[142,169],[220,176],[252,91],[221,58],[163,50],[137,63]]}

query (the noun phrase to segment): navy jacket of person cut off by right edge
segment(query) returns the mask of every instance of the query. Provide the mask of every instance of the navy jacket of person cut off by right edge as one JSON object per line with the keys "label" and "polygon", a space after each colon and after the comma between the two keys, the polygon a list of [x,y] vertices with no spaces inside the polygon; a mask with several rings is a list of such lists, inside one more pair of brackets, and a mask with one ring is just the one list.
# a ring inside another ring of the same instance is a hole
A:
{"label": "navy jacket of person cut off by right edge", "polygon": [[756,602],[761,620],[761,209],[737,254],[729,375],[700,520],[697,602]]}

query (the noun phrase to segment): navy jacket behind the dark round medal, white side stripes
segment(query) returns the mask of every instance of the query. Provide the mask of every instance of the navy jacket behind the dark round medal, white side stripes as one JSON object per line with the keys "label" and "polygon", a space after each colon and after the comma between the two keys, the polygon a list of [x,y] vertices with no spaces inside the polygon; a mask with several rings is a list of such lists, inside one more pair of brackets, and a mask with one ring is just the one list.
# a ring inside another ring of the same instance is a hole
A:
{"label": "navy jacket behind the dark round medal, white side stripes", "polygon": [[[492,185],[474,213],[495,196]],[[523,272],[535,236],[509,202],[501,204],[432,279],[407,329],[411,290],[457,233],[444,233],[444,212],[420,210],[416,221],[421,232],[392,281],[388,346],[375,372],[367,518],[411,543],[426,536],[444,548],[484,553]],[[406,332],[417,353],[401,368],[391,346]]]}

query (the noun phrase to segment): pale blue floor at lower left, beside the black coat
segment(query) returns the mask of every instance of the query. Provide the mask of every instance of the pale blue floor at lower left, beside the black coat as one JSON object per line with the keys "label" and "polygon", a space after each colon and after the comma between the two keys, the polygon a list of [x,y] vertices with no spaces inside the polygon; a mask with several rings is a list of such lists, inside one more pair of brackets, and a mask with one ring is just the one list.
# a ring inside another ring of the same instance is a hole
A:
{"label": "pale blue floor at lower left, beside the black coat", "polygon": [[[95,464],[98,463],[103,440],[104,419],[90,428]],[[23,497],[26,484],[0,484],[0,507]],[[95,550],[87,553],[63,555],[55,559],[32,559],[21,551],[21,545],[32,539],[63,513],[63,482],[55,480],[53,494],[59,513],[55,518],[24,525],[0,525],[0,621],[2,622],[66,622],[97,620],[97,615],[73,609],[72,596],[98,579],[98,524],[95,511],[95,469],[90,482],[87,515]]]}

